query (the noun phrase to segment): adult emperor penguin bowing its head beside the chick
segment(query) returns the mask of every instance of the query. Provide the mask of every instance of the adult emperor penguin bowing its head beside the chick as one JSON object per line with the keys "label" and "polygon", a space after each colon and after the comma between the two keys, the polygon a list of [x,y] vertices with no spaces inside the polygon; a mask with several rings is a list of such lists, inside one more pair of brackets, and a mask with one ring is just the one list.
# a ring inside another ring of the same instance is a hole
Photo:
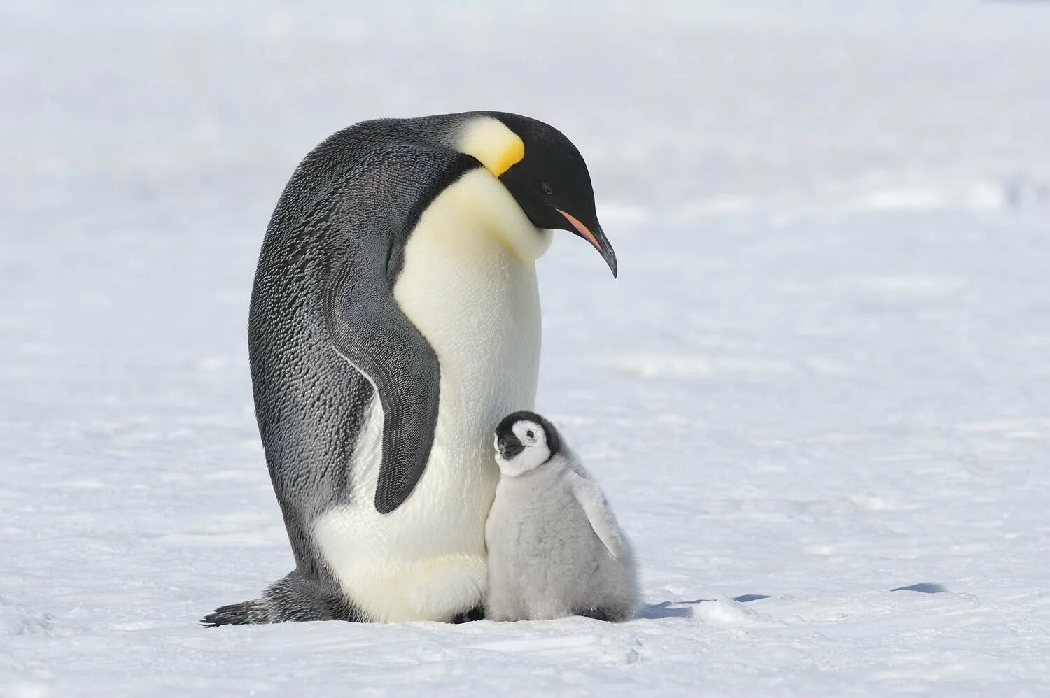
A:
{"label": "adult emperor penguin bowing its head beside the chick", "polygon": [[259,255],[255,411],[295,570],[205,626],[482,606],[500,419],[530,409],[553,230],[616,275],[587,166],[496,111],[364,122],[296,168]]}

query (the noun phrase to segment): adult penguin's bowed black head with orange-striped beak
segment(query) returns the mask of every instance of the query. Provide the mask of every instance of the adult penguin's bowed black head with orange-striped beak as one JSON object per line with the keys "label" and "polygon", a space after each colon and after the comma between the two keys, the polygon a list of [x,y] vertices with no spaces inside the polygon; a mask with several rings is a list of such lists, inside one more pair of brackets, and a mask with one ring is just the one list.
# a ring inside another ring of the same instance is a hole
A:
{"label": "adult penguin's bowed black head with orange-striped beak", "polygon": [[567,230],[594,246],[616,276],[616,253],[594,212],[587,164],[565,135],[543,122],[491,112],[522,140],[524,154],[499,175],[537,228]]}

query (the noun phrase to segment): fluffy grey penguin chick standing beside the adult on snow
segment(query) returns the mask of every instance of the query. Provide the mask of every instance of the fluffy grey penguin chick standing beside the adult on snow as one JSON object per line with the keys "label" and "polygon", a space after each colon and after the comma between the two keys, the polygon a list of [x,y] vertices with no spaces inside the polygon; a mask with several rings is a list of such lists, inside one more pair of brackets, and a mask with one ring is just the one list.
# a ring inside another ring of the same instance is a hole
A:
{"label": "fluffy grey penguin chick standing beside the adult on snow", "polygon": [[530,411],[496,429],[500,482],[485,522],[491,620],[634,617],[634,555],[597,484]]}

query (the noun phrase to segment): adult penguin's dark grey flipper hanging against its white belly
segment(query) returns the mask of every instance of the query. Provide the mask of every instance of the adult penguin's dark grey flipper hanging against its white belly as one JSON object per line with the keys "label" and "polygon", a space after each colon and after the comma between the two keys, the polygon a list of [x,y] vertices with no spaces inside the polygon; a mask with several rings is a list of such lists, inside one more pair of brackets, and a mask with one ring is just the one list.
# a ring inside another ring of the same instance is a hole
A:
{"label": "adult penguin's dark grey flipper hanging against its white belly", "polygon": [[335,350],[376,388],[383,408],[383,452],[376,510],[404,504],[423,474],[438,422],[441,367],[429,342],[394,300],[380,270],[333,271],[324,318]]}

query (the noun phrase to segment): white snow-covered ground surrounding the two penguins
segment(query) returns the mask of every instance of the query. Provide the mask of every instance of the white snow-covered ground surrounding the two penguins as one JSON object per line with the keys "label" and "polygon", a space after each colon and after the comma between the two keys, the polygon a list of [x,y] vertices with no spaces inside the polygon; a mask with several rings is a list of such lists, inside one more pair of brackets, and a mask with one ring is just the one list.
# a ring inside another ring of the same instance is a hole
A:
{"label": "white snow-covered ground surrounding the two penguins", "polygon": [[[0,693],[1050,691],[1050,3],[391,4],[0,8]],[[642,617],[200,629],[291,568],[280,188],[470,108],[590,163],[622,274],[542,260],[540,406]]]}

